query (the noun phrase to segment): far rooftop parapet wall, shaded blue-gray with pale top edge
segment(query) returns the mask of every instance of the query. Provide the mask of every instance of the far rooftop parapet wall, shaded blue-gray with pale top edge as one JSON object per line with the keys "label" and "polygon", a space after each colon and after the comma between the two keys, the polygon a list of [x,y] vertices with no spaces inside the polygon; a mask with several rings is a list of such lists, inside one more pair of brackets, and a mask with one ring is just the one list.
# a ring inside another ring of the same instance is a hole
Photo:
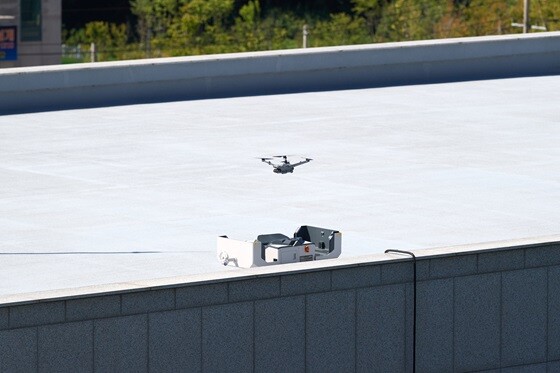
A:
{"label": "far rooftop parapet wall, shaded blue-gray with pale top edge", "polygon": [[560,32],[0,70],[0,113],[560,74]]}

